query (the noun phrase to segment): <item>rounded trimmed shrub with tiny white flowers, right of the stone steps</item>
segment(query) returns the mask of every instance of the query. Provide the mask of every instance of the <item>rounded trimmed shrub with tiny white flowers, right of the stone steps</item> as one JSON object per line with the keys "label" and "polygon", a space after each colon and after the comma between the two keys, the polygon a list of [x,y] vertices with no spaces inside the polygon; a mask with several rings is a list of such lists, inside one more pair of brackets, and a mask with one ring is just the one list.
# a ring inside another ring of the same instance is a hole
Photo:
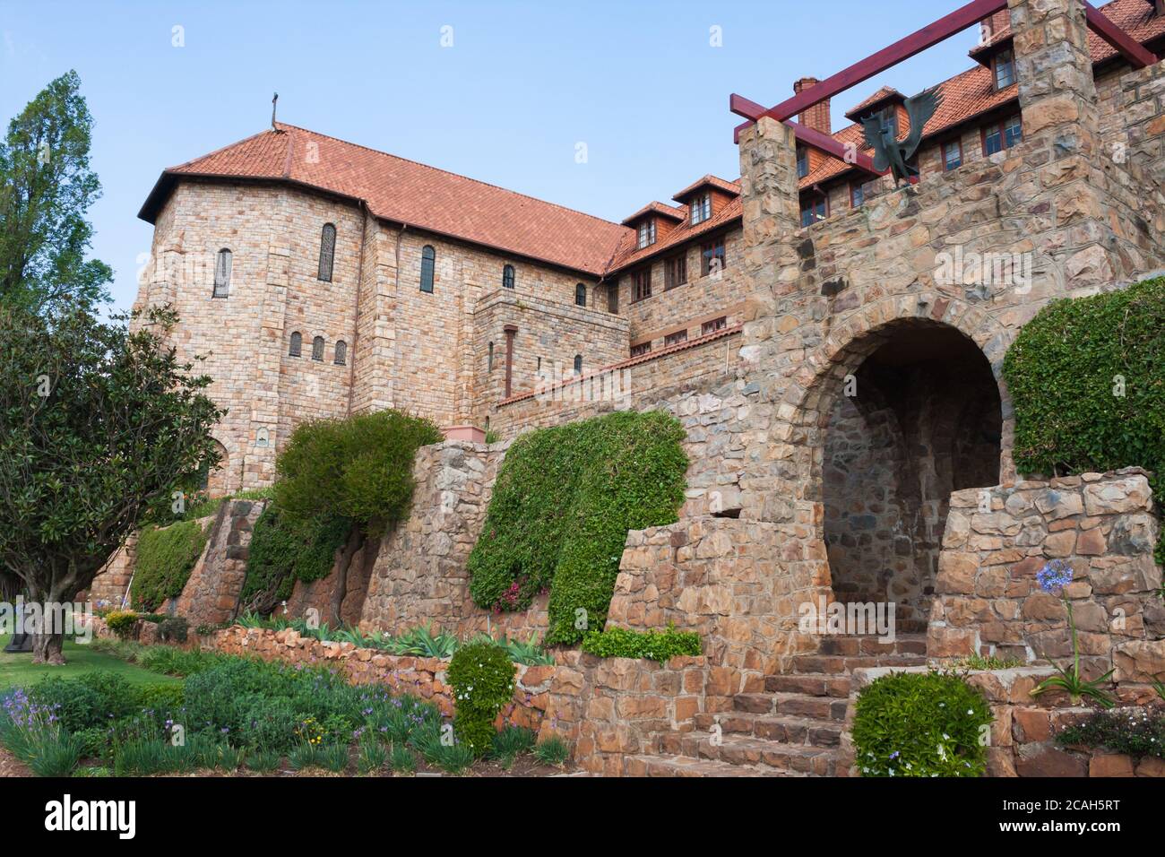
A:
{"label": "rounded trimmed shrub with tiny white flowers, right of the stone steps", "polygon": [[857,695],[855,764],[862,777],[982,777],[991,710],[951,673],[891,673]]}

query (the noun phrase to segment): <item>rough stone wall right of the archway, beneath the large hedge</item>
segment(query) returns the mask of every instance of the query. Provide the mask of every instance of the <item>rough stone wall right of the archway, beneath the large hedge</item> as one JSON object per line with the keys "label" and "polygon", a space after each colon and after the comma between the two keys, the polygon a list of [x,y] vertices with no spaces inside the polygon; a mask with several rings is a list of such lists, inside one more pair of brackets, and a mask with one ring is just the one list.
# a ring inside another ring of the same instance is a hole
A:
{"label": "rough stone wall right of the archway, beneath the large hedge", "polygon": [[[1165,652],[1162,570],[1153,562],[1158,527],[1149,482],[1137,468],[956,491],[939,557],[929,654],[1069,659],[1064,603],[1036,582],[1053,559],[1074,571],[1067,596],[1089,677],[1111,669],[1118,652]],[[1165,672],[1165,661],[1156,666]],[[1148,688],[1136,686],[1146,679],[1123,670],[1118,681],[1129,687],[1122,696],[1143,698]]]}

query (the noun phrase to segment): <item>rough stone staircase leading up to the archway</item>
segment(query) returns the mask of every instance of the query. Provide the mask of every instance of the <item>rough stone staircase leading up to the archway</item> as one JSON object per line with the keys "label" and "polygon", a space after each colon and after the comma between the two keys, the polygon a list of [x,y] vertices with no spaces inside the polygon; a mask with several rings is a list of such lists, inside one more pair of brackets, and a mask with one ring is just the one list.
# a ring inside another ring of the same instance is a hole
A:
{"label": "rough stone staircase leading up to the archway", "polygon": [[[817,654],[797,655],[790,672],[769,675],[764,693],[737,694],[733,710],[697,715],[697,731],[661,733],[652,753],[627,759],[633,777],[833,777],[849,704],[849,675],[860,667],[926,662],[926,637],[825,637]],[[714,723],[722,730],[713,743]],[[845,772],[840,772],[845,774]]]}

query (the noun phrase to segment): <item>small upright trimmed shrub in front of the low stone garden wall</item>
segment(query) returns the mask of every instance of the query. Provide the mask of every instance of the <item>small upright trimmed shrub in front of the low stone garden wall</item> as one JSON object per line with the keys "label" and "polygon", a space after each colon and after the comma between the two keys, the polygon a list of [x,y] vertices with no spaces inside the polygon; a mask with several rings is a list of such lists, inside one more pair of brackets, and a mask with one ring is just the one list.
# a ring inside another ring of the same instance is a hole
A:
{"label": "small upright trimmed shrub in front of the low stone garden wall", "polygon": [[516,673],[506,649],[492,642],[461,646],[449,663],[453,733],[475,757],[483,756],[493,745],[494,718],[514,698]]}

